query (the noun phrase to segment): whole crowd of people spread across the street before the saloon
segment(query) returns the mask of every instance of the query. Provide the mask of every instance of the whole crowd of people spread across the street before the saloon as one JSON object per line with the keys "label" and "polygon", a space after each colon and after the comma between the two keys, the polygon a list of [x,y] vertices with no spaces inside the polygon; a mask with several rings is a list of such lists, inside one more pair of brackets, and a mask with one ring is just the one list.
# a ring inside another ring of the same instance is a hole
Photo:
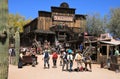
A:
{"label": "whole crowd of people spread across the street before the saloon", "polygon": [[[92,60],[90,54],[83,54],[83,47],[80,45],[80,49],[77,51],[72,50],[71,48],[64,48],[60,44],[56,47],[50,47],[49,42],[45,41],[44,47],[42,50],[39,50],[41,55],[43,55],[42,60],[44,61],[44,68],[50,68],[50,57],[52,56],[53,68],[57,68],[57,60],[59,58],[60,66],[62,71],[92,71]],[[37,60],[35,59],[38,49],[33,45],[30,48],[20,48],[19,61],[23,60],[23,56],[31,56],[35,66]],[[15,49],[9,49],[10,54],[10,64],[15,60]],[[115,49],[115,55],[119,55],[119,51]],[[76,68],[73,68],[74,63],[76,62]],[[89,67],[88,67],[89,66]]]}

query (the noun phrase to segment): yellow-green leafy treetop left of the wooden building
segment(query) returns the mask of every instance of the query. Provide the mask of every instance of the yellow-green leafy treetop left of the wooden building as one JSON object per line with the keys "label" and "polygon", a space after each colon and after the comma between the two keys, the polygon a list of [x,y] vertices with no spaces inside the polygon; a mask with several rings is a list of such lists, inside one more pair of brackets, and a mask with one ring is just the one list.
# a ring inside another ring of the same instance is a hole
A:
{"label": "yellow-green leafy treetop left of the wooden building", "polygon": [[30,21],[31,19],[25,20],[25,17],[19,14],[8,15],[8,25],[14,27],[15,30],[19,28],[20,32],[23,32],[23,26]]}

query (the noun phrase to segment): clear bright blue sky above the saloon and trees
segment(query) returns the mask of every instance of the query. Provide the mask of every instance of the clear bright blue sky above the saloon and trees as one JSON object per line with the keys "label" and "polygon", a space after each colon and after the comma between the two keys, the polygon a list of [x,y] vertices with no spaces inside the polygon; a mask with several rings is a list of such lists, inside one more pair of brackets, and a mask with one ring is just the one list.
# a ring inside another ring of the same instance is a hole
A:
{"label": "clear bright blue sky above the saloon and trees", "polygon": [[99,13],[104,16],[111,8],[120,7],[120,0],[8,0],[9,13],[20,14],[28,18],[38,17],[38,11],[51,12],[51,6],[59,7],[67,2],[70,8],[76,9],[76,14]]}

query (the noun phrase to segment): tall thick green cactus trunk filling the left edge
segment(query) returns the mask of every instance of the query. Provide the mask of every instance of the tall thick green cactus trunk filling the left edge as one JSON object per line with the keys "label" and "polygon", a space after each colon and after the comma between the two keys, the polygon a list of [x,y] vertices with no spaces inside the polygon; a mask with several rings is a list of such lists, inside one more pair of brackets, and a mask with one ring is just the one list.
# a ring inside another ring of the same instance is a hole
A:
{"label": "tall thick green cactus trunk filling the left edge", "polygon": [[8,0],[0,0],[0,79],[8,78]]}

